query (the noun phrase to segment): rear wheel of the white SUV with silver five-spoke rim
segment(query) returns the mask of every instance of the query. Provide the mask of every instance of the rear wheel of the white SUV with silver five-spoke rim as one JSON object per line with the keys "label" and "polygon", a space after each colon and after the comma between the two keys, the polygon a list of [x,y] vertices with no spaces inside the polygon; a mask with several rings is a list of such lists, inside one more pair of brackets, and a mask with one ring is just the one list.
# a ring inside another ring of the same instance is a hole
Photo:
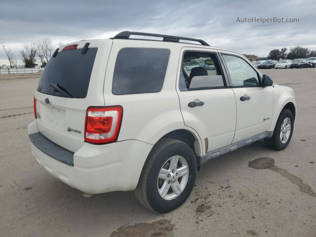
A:
{"label": "rear wheel of the white SUV with silver five-spoke rim", "polygon": [[196,173],[197,160],[191,147],[162,138],[149,153],[134,192],[148,209],[167,213],[190,196]]}

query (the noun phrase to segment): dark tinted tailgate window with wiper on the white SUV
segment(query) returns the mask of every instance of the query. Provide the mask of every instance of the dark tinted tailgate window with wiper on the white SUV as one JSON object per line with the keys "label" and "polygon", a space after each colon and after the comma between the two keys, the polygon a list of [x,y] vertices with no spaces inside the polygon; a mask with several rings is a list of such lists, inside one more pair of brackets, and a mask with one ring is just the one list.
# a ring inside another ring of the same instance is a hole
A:
{"label": "dark tinted tailgate window with wiper on the white SUV", "polygon": [[37,91],[68,97],[65,93],[56,91],[50,86],[50,84],[57,83],[59,88],[73,98],[85,98],[96,53],[97,48],[88,48],[86,54],[82,54],[81,49],[59,52],[56,58],[52,57],[48,61],[37,85]]}

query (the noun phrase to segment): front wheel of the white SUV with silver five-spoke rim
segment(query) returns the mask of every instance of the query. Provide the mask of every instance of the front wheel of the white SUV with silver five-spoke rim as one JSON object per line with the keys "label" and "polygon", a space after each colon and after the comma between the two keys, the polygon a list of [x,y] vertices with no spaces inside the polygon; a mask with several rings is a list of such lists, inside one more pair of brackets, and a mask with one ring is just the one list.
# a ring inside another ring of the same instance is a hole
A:
{"label": "front wheel of the white SUV with silver five-spoke rim", "polygon": [[[288,118],[289,121],[285,121],[286,118]],[[284,124],[285,128],[283,130]],[[270,138],[264,138],[264,143],[266,147],[278,151],[286,148],[289,145],[289,142],[291,141],[293,128],[294,118],[292,112],[289,109],[283,109],[279,115],[279,118],[276,121],[273,136]],[[288,134],[286,130],[289,131]],[[285,133],[281,134],[282,132]]]}

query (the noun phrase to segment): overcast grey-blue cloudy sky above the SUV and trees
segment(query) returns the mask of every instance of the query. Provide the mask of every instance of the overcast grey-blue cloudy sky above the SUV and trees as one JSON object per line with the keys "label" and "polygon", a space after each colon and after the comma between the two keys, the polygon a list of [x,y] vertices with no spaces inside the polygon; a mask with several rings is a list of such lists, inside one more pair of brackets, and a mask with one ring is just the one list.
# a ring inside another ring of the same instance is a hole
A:
{"label": "overcast grey-blue cloudy sky above the SUV and trees", "polygon": [[[21,44],[104,39],[124,30],[199,38],[211,46],[266,56],[272,49],[316,49],[316,4],[305,0],[252,1],[4,1],[0,40],[19,55]],[[236,23],[237,17],[299,18],[299,23]],[[0,65],[8,64],[2,48]]]}

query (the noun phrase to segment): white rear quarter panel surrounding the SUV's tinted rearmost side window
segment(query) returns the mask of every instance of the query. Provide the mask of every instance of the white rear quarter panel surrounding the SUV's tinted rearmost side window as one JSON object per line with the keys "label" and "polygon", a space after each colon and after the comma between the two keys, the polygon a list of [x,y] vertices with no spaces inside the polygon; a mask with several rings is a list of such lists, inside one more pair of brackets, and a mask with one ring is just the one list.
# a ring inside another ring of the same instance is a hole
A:
{"label": "white rear quarter panel surrounding the SUV's tinted rearmost side window", "polygon": [[[167,48],[170,50],[165,80],[160,92],[112,94],[112,78],[116,57],[120,49],[127,47]],[[145,40],[113,40],[106,69],[104,97],[105,106],[120,105],[123,107],[123,119],[118,141],[135,139],[154,145],[165,134],[176,129],[191,131],[199,140],[197,133],[184,125],[179,97],[175,88],[181,47],[181,44],[169,42],[153,44],[151,41]],[[202,146],[201,143],[200,145]]]}

